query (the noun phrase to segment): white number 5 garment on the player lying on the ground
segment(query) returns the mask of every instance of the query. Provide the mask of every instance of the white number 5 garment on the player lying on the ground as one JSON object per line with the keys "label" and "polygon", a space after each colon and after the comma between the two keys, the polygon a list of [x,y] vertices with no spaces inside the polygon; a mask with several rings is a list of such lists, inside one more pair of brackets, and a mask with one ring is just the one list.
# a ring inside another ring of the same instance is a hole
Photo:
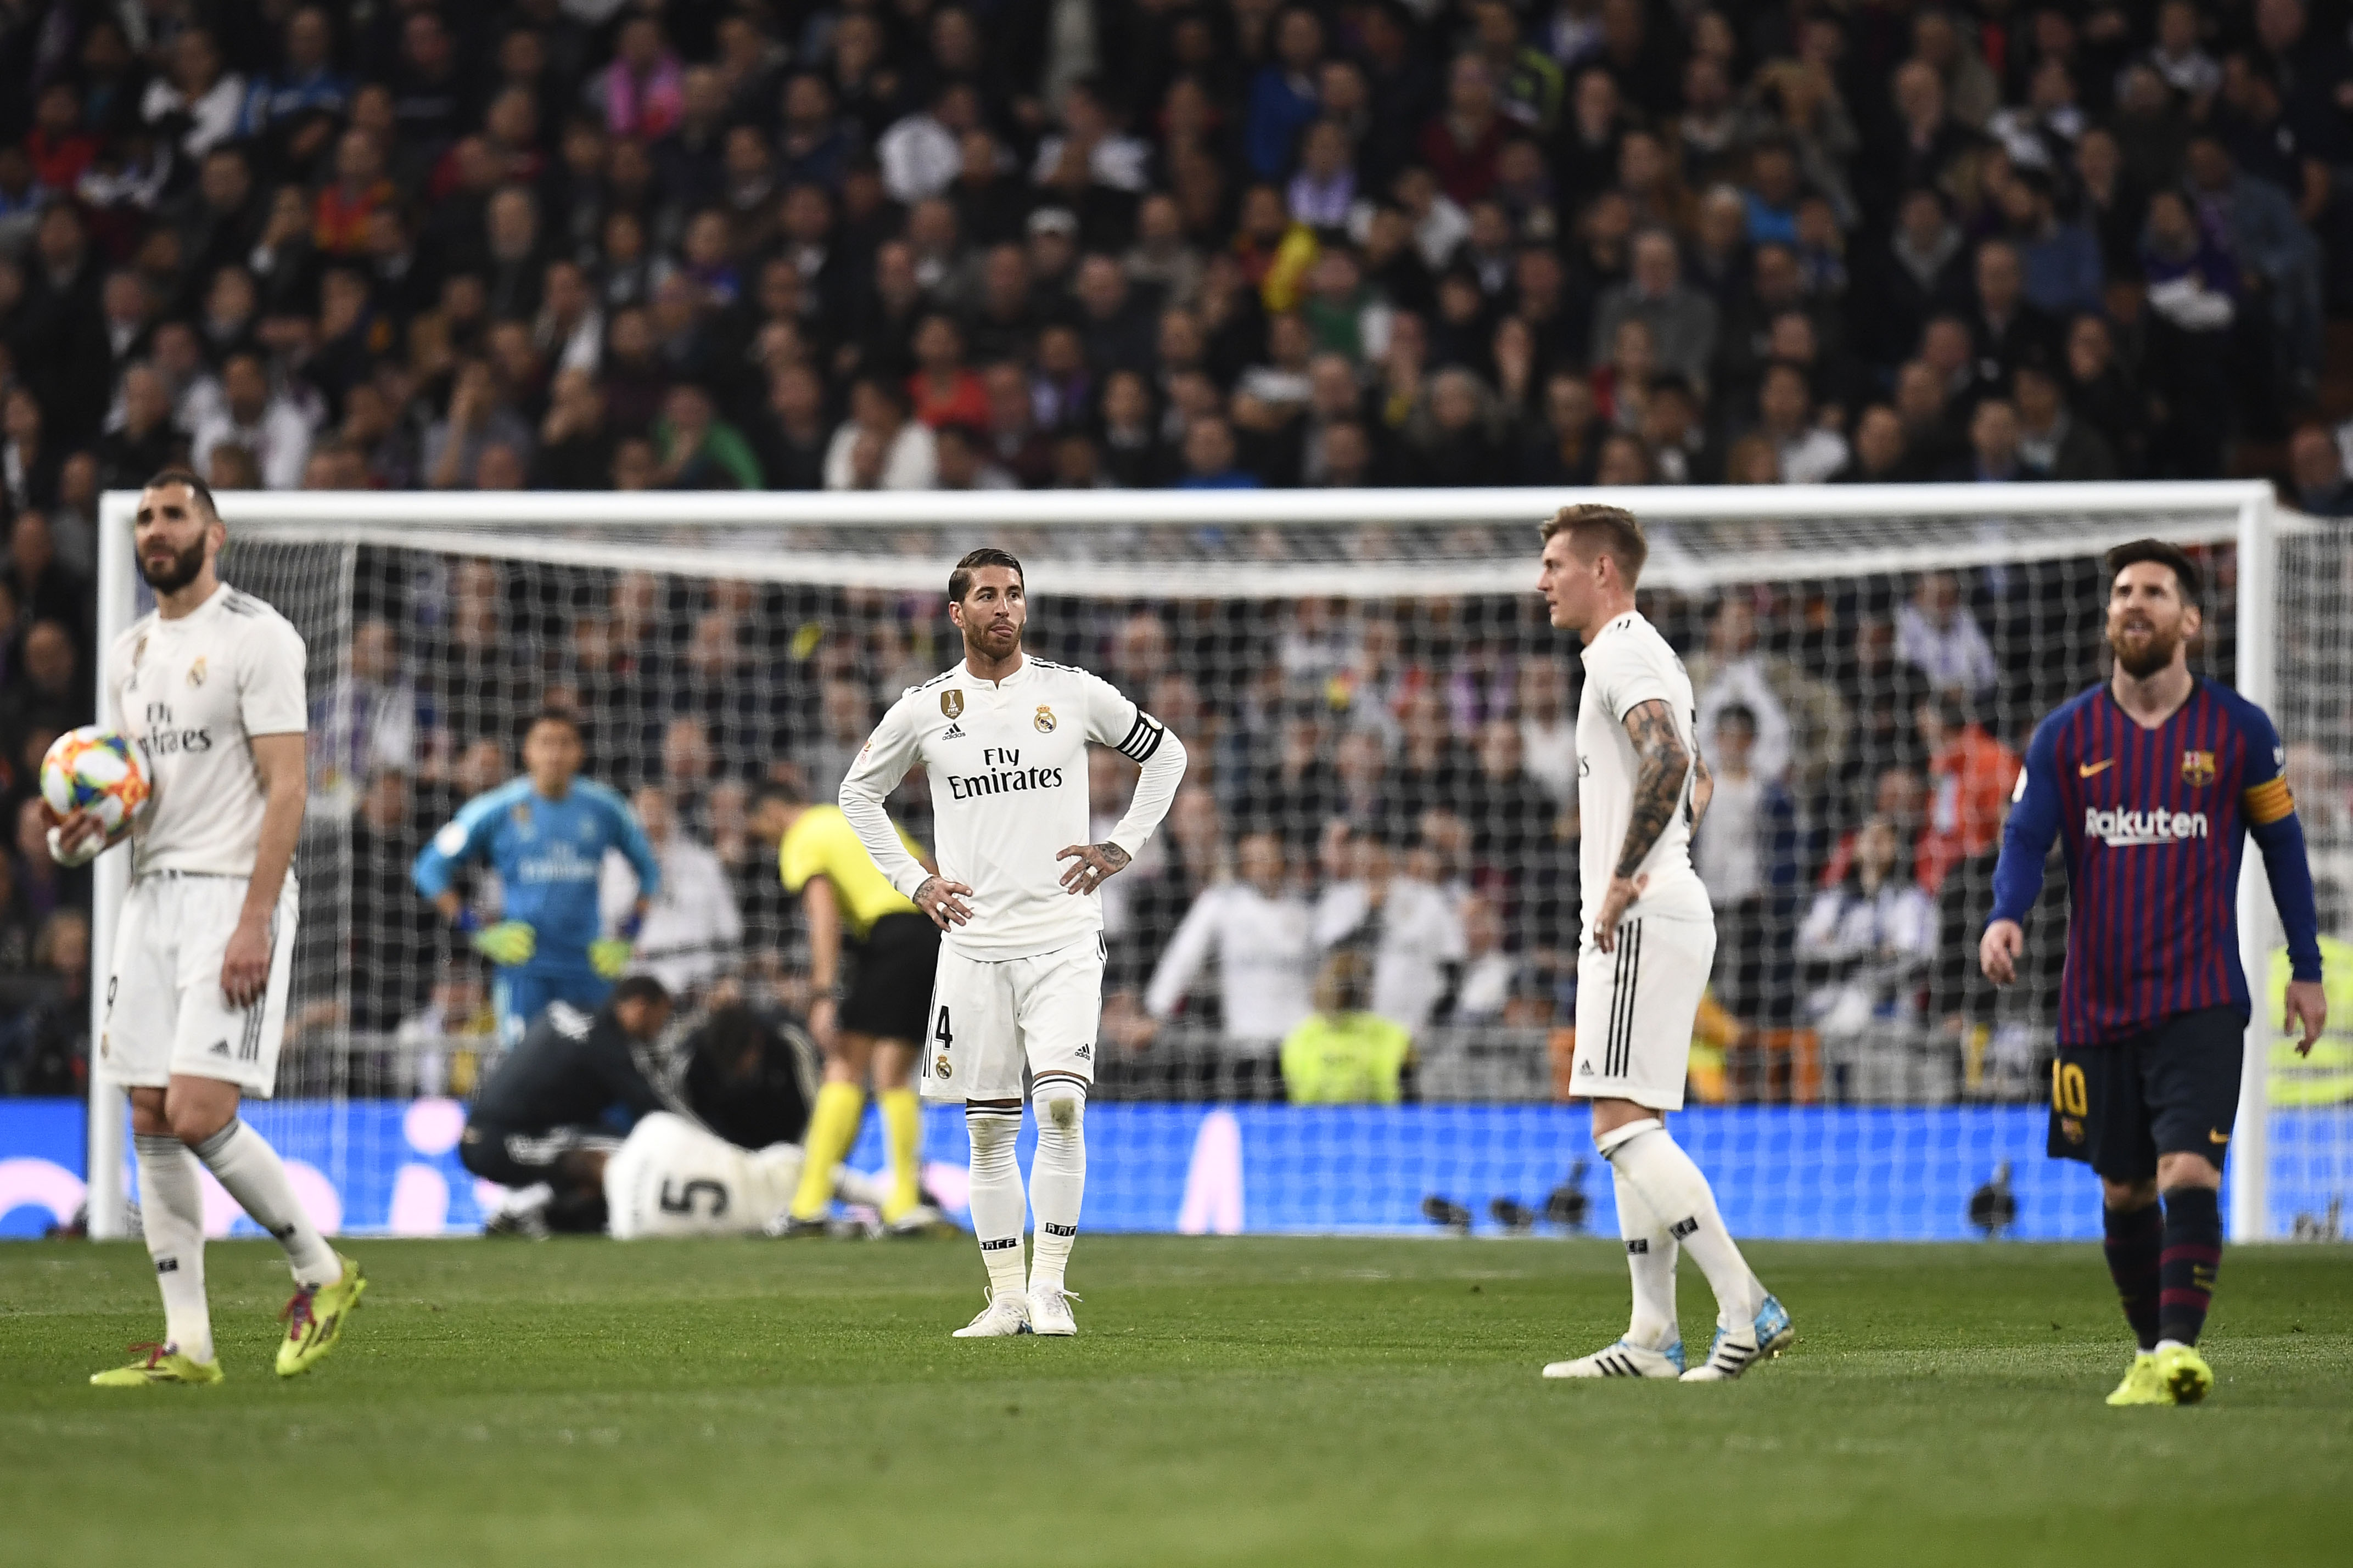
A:
{"label": "white number 5 garment on the player lying on the ground", "polygon": [[666,1110],[647,1114],[605,1161],[605,1206],[619,1241],[755,1237],[793,1206],[798,1143],[739,1150]]}

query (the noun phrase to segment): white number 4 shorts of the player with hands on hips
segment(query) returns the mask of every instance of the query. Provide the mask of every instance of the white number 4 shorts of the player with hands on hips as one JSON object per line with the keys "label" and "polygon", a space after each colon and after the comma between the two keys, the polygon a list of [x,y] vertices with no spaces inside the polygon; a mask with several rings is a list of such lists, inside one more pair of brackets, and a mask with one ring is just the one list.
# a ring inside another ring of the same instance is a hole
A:
{"label": "white number 4 shorts of the player with hands on hips", "polygon": [[925,1100],[1019,1100],[1033,1079],[1094,1084],[1104,1018],[1104,938],[1026,959],[967,959],[939,950],[922,1044]]}

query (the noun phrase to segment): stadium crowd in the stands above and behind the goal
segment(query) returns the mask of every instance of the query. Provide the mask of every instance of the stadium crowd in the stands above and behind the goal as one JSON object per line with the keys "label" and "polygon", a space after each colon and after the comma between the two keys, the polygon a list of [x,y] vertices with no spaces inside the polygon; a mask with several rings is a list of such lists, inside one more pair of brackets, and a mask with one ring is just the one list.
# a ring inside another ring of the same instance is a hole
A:
{"label": "stadium crowd in the stands above and behind the goal", "polygon": [[[167,461],[273,489],[2275,461],[2289,503],[2353,512],[2322,418],[2353,308],[2337,0],[14,0],[0,82],[9,1091],[78,1072],[87,877],[47,863],[28,792],[89,717],[96,496]],[[355,954],[353,1027],[478,1009],[402,856],[513,769],[532,705],[579,705],[664,853],[732,886],[739,931],[685,945],[762,954],[791,929],[769,759],[824,797],[878,701],[946,663],[922,611],[642,576],[551,609],[501,571],[372,592],[315,693],[320,816],[388,945]],[[1734,1034],[1984,1011],[1953,931],[2052,696],[2017,628],[2054,590],[1671,607],[1727,757],[1701,858]],[[1318,926],[1353,898],[1395,933],[1374,889],[1440,891],[1407,898],[1412,947],[1449,973],[1369,980],[1412,1027],[1562,1016],[1574,670],[1527,658],[1527,607],[1089,614],[1059,651],[1205,738],[1113,900],[1129,1039],[1176,1009],[1151,954],[1247,882],[1252,827]],[[887,635],[774,630],[828,616]]]}

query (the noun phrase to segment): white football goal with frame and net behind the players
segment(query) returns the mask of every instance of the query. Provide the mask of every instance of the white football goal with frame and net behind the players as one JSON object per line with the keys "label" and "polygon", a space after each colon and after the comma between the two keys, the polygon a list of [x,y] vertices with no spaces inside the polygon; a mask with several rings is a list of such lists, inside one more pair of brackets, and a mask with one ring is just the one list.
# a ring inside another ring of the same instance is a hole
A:
{"label": "white football goal with frame and net behind the players", "polygon": [[[1579,661],[1534,597],[1534,524],[1572,498],[1595,494],[221,496],[224,576],[311,646],[301,945],[278,1100],[254,1119],[346,1229],[478,1222],[454,1143],[496,1051],[489,976],[409,863],[518,771],[541,708],[579,715],[588,773],[633,797],[666,863],[696,867],[671,879],[687,891],[656,905],[640,964],[692,997],[805,1009],[762,792],[831,799],[880,710],[960,658],[946,576],[988,543],[1026,567],[1028,646],[1113,679],[1193,759],[1165,830],[1104,893],[1089,1225],[1541,1227],[1577,1220],[1584,1194],[1581,1220],[1609,1229],[1609,1182],[1584,1182],[1584,1112],[1562,1098]],[[1958,1237],[1974,1199],[2017,1234],[2097,1234],[2092,1182],[2042,1161],[2057,867],[2021,985],[1995,992],[1974,964],[2017,757],[2104,675],[2101,552],[2191,545],[2212,583],[2195,663],[2278,715],[2329,933],[2353,936],[2344,538],[2247,484],[1602,498],[1649,527],[1645,611],[1692,672],[1718,778],[1697,858],[1720,950],[1685,1135],[1727,1218]],[[108,498],[101,562],[115,628],[141,592],[127,501]],[[1132,778],[1092,757],[1101,825]],[[892,809],[929,839],[920,778]],[[108,856],[101,961],[120,877]],[[1217,922],[1188,933],[1186,917],[1238,879],[1297,940],[1193,940]],[[2278,926],[2254,856],[2247,884],[2268,997]],[[466,893],[496,907],[487,877]],[[607,903],[631,896],[616,863]],[[1405,1103],[1280,1105],[1273,1037],[1351,976],[1412,1032]],[[2353,1185],[2353,1074],[2275,1063],[2275,1011],[2249,1034],[2238,1234],[2334,1225]],[[118,1133],[101,1091],[101,1232],[122,1227]],[[880,1164],[873,1128],[852,1159]],[[958,1119],[934,1114],[927,1159],[953,1201]]]}

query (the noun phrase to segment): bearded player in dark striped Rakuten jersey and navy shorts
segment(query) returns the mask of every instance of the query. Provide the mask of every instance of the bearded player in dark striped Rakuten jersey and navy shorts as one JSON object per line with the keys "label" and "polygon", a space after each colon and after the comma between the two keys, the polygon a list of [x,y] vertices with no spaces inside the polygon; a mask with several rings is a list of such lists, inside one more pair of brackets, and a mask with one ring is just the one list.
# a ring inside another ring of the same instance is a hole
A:
{"label": "bearded player in dark striped Rakuten jersey and navy shorts", "polygon": [[[2249,1018],[2238,867],[2252,835],[2287,929],[2287,1018],[2327,1025],[2304,827],[2261,708],[2191,675],[2198,564],[2155,538],[2108,552],[2115,672],[2035,726],[1993,870],[1979,966],[2017,980],[2061,839],[2068,882],[2049,1157],[2099,1173],[2108,1274],[2139,1352],[2111,1406],[2195,1403],[2221,1267],[2221,1164]],[[2162,1197],[2162,1213],[2158,1201]]]}

